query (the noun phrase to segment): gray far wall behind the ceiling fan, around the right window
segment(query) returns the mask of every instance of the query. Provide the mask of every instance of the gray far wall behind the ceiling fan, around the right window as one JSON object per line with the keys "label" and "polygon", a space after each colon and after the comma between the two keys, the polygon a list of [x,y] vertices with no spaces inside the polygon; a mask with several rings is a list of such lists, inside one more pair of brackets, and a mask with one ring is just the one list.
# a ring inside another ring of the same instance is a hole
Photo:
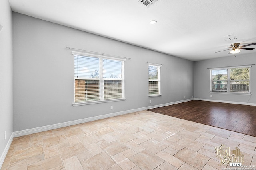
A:
{"label": "gray far wall behind the ceiling fan, around the right window", "polygon": [[[252,95],[239,95],[239,94],[216,94],[210,93],[210,70],[207,68],[218,68],[227,66],[240,66],[256,64],[256,53],[243,54],[234,57],[221,57],[210,60],[197,61],[194,63],[194,94],[195,97],[207,100],[223,100],[234,103],[256,103],[256,65],[251,68],[251,92]],[[212,98],[210,97],[212,95]]]}

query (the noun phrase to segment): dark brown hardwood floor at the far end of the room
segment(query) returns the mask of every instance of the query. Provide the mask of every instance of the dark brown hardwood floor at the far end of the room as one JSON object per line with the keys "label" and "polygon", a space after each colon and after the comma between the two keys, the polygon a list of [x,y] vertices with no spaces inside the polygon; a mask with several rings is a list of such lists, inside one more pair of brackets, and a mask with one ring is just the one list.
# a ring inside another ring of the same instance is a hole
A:
{"label": "dark brown hardwood floor at the far end of the room", "polygon": [[148,111],[256,137],[256,106],[192,100]]}

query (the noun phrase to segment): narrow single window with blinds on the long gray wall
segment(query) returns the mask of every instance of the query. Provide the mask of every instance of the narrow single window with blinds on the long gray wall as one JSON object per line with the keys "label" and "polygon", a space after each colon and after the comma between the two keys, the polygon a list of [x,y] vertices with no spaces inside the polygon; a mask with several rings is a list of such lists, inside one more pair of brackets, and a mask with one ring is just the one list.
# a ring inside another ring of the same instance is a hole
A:
{"label": "narrow single window with blinds on the long gray wall", "polygon": [[148,96],[161,95],[160,68],[161,64],[148,63]]}

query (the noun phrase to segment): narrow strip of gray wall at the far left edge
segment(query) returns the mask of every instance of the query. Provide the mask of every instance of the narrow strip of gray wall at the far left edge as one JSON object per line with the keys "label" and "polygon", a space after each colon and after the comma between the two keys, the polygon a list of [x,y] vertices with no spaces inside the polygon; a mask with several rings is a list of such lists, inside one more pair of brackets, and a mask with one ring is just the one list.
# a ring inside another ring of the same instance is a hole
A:
{"label": "narrow strip of gray wall at the far left edge", "polygon": [[[12,11],[8,0],[0,2],[0,156],[12,134]],[[4,140],[4,131],[7,139]],[[0,164],[1,167],[1,164]]]}

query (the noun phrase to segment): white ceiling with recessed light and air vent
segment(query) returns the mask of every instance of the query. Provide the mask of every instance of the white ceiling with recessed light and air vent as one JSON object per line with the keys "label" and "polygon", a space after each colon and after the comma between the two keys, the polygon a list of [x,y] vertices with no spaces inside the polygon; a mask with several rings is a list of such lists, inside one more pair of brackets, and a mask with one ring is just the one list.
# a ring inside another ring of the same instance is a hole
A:
{"label": "white ceiling with recessed light and air vent", "polygon": [[[230,56],[222,50],[232,43],[256,43],[256,0],[158,0],[149,8],[138,0],[9,2],[15,12],[191,61]],[[256,49],[236,56],[248,53]]]}

